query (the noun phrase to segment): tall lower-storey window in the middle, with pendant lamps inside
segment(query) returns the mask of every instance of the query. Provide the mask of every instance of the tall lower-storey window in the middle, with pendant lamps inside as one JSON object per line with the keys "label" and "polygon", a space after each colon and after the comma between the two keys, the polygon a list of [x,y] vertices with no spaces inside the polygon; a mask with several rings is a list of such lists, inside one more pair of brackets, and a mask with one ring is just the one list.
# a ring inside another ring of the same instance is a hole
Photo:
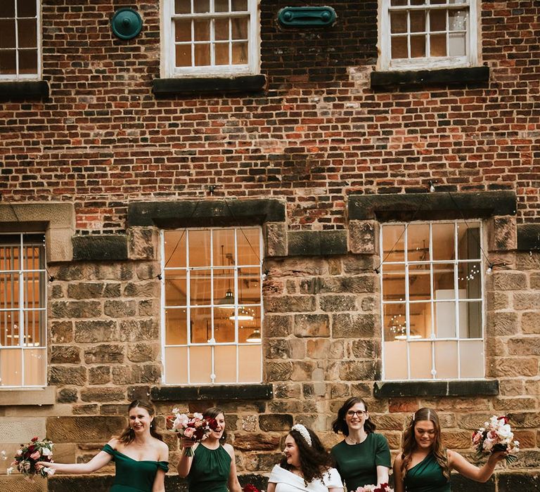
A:
{"label": "tall lower-storey window in the middle, with pendant lamps inside", "polygon": [[162,232],[167,384],[261,382],[261,258],[257,227]]}

